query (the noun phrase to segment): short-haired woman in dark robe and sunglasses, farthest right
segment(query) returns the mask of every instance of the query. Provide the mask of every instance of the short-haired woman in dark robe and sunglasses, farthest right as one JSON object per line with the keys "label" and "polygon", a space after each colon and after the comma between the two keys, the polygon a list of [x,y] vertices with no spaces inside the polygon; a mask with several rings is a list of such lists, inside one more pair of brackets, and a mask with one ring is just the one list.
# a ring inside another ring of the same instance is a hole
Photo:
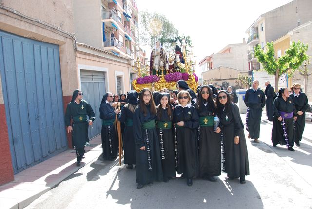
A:
{"label": "short-haired woman in dark robe and sunglasses, farthest right", "polygon": [[296,146],[300,146],[304,126],[306,125],[306,110],[308,108],[308,98],[305,93],[300,92],[300,84],[292,85],[293,93],[290,95],[292,98],[297,112],[297,120],[294,123],[294,142]]}

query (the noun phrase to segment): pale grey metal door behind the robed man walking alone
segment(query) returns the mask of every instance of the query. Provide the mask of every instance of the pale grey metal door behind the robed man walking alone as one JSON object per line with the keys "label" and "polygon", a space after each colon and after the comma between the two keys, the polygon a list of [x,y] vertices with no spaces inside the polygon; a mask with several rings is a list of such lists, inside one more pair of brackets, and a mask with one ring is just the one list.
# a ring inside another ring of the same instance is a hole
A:
{"label": "pale grey metal door behind the robed man walking alone", "polygon": [[83,99],[92,107],[96,120],[92,127],[89,127],[89,139],[92,139],[101,133],[102,121],[99,118],[99,106],[103,95],[105,94],[105,74],[99,71],[80,70],[81,91]]}

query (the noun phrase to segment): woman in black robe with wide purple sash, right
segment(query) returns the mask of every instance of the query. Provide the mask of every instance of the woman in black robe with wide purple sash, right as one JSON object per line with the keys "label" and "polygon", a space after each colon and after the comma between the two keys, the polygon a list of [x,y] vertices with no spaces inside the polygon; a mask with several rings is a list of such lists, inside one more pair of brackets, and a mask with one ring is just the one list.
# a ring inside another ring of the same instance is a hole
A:
{"label": "woman in black robe with wide purple sash, right", "polygon": [[[292,148],[294,145],[293,120],[297,119],[296,115],[295,104],[289,97],[288,88],[280,88],[278,96],[273,101],[274,117],[271,137],[273,146],[287,145],[288,150],[294,151]],[[285,131],[284,128],[286,128]]]}

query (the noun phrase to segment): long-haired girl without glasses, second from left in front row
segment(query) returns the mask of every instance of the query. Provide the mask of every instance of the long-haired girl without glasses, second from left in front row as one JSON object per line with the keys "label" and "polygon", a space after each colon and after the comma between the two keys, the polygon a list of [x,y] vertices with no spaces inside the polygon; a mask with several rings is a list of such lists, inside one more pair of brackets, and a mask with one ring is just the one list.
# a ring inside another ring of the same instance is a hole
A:
{"label": "long-haired girl without glasses, second from left in front row", "polygon": [[160,142],[160,156],[164,173],[164,182],[176,176],[175,144],[172,133],[173,110],[171,109],[170,94],[161,93],[157,97],[160,103],[157,111],[157,133]]}

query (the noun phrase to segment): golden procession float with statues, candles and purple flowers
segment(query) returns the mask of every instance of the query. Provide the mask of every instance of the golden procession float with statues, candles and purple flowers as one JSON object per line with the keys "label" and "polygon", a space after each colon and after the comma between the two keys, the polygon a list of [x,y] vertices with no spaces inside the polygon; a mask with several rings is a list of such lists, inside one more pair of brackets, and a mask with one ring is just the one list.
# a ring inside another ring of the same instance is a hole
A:
{"label": "golden procession float with statues, candles and purple flowers", "polygon": [[149,88],[152,92],[164,88],[176,90],[176,82],[182,79],[196,91],[198,77],[192,59],[192,48],[186,45],[185,39],[182,40],[181,46],[176,44],[175,52],[169,53],[169,56],[157,41],[151,53],[150,64],[147,64],[147,58],[145,64],[141,63],[139,47],[136,46],[136,59],[134,53],[131,53],[131,65],[133,71],[137,73],[137,78],[132,81],[132,87],[137,92],[143,88]]}

